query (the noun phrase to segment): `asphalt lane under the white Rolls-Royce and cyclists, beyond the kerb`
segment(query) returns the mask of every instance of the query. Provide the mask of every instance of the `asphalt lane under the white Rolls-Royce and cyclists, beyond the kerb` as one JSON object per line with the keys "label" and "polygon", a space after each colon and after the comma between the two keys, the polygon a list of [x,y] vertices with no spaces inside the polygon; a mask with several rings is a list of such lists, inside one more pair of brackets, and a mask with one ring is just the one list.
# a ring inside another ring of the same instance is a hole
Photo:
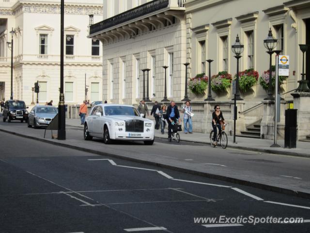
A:
{"label": "asphalt lane under the white Rolls-Royce and cyclists, beyond the kerb", "polygon": [[[29,129],[26,123],[17,121],[10,124],[0,122],[0,128],[41,138],[44,135],[43,129]],[[141,142],[104,145],[101,139],[95,138],[93,141],[84,141],[83,131],[77,127],[67,127],[66,134],[65,143],[68,145],[82,145],[86,149],[310,193],[310,158],[223,150],[220,147],[183,142],[182,134],[180,143],[156,138],[153,146],[144,146]],[[47,132],[47,138],[50,138],[50,132]]]}

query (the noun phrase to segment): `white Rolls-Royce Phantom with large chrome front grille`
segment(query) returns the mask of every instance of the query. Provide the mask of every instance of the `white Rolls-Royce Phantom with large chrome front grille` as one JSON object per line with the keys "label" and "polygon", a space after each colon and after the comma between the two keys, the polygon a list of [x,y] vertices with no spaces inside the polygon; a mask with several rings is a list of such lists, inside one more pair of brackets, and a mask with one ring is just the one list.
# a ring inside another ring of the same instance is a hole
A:
{"label": "white Rolls-Royce Phantom with large chrome front grille", "polygon": [[105,144],[111,140],[143,141],[154,143],[154,122],[143,118],[130,105],[98,104],[92,108],[84,123],[84,139],[103,138]]}

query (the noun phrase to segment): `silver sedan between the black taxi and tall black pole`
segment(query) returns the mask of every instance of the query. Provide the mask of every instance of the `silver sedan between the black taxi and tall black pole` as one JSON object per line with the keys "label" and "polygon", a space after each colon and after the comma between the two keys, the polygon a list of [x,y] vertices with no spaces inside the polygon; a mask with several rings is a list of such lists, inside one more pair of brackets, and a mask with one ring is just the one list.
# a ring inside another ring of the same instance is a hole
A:
{"label": "silver sedan between the black taxi and tall black pole", "polygon": [[36,105],[28,115],[28,127],[31,128],[33,126],[34,129],[37,129],[47,126],[57,113],[58,109],[54,106]]}

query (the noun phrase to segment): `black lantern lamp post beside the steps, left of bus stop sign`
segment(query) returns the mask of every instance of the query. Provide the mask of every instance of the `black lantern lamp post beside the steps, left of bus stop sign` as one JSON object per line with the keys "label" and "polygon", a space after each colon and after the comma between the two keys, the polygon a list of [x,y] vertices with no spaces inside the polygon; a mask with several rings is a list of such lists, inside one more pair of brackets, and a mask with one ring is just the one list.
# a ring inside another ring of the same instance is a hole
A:
{"label": "black lantern lamp post beside the steps, left of bus stop sign", "polygon": [[269,28],[269,33],[266,39],[263,40],[264,47],[268,50],[267,53],[269,54],[269,86],[267,91],[267,97],[264,100],[274,100],[272,96],[272,54],[274,53],[274,49],[277,47],[278,40],[272,36],[271,28]]}

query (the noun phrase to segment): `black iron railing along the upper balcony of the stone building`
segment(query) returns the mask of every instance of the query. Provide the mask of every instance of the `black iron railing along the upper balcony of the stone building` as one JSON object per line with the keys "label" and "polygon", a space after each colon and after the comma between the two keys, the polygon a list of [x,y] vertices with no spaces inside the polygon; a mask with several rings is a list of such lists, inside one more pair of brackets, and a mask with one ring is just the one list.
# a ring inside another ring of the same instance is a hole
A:
{"label": "black iron railing along the upper balcony of the stone building", "polygon": [[[179,0],[179,4],[183,4],[184,0]],[[90,26],[90,34],[100,32],[115,25],[127,22],[134,18],[144,16],[146,14],[166,8],[169,5],[169,0],[154,0],[135,7],[129,11],[125,11],[119,15],[107,18],[99,23]]]}

